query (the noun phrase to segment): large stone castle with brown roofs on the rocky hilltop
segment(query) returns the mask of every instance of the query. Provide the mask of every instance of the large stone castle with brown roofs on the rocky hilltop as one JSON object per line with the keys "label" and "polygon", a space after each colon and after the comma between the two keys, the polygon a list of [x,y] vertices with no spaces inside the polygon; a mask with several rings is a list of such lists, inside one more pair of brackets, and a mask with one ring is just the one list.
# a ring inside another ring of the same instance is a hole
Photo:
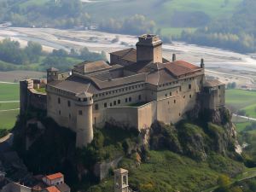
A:
{"label": "large stone castle with brown roofs on the rocky hilltop", "polygon": [[[224,107],[225,84],[205,78],[203,60],[200,67],[176,61],[176,55],[166,60],[156,35],[140,36],[136,46],[111,53],[109,64],[85,61],[70,73],[47,70],[44,108],[76,132],[77,147],[90,143],[94,128],[106,122],[141,131],[155,120],[175,124],[199,102],[206,109]],[[29,101],[26,91],[20,93]]]}

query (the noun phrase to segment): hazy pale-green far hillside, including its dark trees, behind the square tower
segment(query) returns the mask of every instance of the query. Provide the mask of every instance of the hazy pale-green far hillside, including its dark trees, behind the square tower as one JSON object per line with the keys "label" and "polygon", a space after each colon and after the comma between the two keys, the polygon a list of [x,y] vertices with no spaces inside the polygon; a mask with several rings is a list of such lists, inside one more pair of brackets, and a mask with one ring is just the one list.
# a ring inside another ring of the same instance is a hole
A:
{"label": "hazy pale-green far hillside, including its dark trees, behind the square tower", "polygon": [[[229,18],[239,3],[241,0],[105,0],[85,3],[85,9],[96,22],[102,21],[102,18],[144,15],[148,20],[154,20],[156,27],[167,35],[181,32],[183,28],[205,26],[211,20]],[[101,10],[100,15],[97,14],[98,10]]]}

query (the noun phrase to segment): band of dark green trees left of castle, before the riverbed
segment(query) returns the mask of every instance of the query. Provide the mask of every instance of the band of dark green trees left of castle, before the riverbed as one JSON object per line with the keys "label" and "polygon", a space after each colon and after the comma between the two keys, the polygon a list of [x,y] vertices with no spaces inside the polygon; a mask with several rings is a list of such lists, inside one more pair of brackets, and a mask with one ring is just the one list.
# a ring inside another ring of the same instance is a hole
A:
{"label": "band of dark green trees left of castle, before the riverbed", "polygon": [[[45,70],[47,67],[58,67],[66,71],[79,61],[106,61],[106,55],[102,53],[90,52],[87,48],[54,49],[51,53],[43,51],[42,45],[35,42],[28,42],[25,48],[20,47],[20,43],[10,38],[0,42],[0,69],[14,70],[31,69],[30,65],[36,65],[37,70]],[[1,62],[3,61],[3,62]],[[12,67],[9,67],[12,65]]]}

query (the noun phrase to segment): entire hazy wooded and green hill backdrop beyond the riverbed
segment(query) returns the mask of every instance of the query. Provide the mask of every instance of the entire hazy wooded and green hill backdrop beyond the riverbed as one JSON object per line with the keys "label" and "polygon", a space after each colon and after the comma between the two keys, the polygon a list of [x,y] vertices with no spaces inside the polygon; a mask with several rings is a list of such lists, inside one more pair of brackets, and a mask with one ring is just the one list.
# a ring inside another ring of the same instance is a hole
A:
{"label": "entire hazy wooded and green hill backdrop beyond the riverbed", "polygon": [[[0,0],[0,22],[105,32],[154,32],[239,52],[255,51],[255,0]],[[90,3],[88,3],[90,2]]]}

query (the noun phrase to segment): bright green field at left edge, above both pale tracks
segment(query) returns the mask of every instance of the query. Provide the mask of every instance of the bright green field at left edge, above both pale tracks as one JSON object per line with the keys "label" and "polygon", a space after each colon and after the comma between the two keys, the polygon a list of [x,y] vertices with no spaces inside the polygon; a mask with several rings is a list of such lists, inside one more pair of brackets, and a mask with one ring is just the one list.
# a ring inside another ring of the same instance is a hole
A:
{"label": "bright green field at left edge, above both pale tracks", "polygon": [[0,102],[20,101],[20,84],[0,83]]}

